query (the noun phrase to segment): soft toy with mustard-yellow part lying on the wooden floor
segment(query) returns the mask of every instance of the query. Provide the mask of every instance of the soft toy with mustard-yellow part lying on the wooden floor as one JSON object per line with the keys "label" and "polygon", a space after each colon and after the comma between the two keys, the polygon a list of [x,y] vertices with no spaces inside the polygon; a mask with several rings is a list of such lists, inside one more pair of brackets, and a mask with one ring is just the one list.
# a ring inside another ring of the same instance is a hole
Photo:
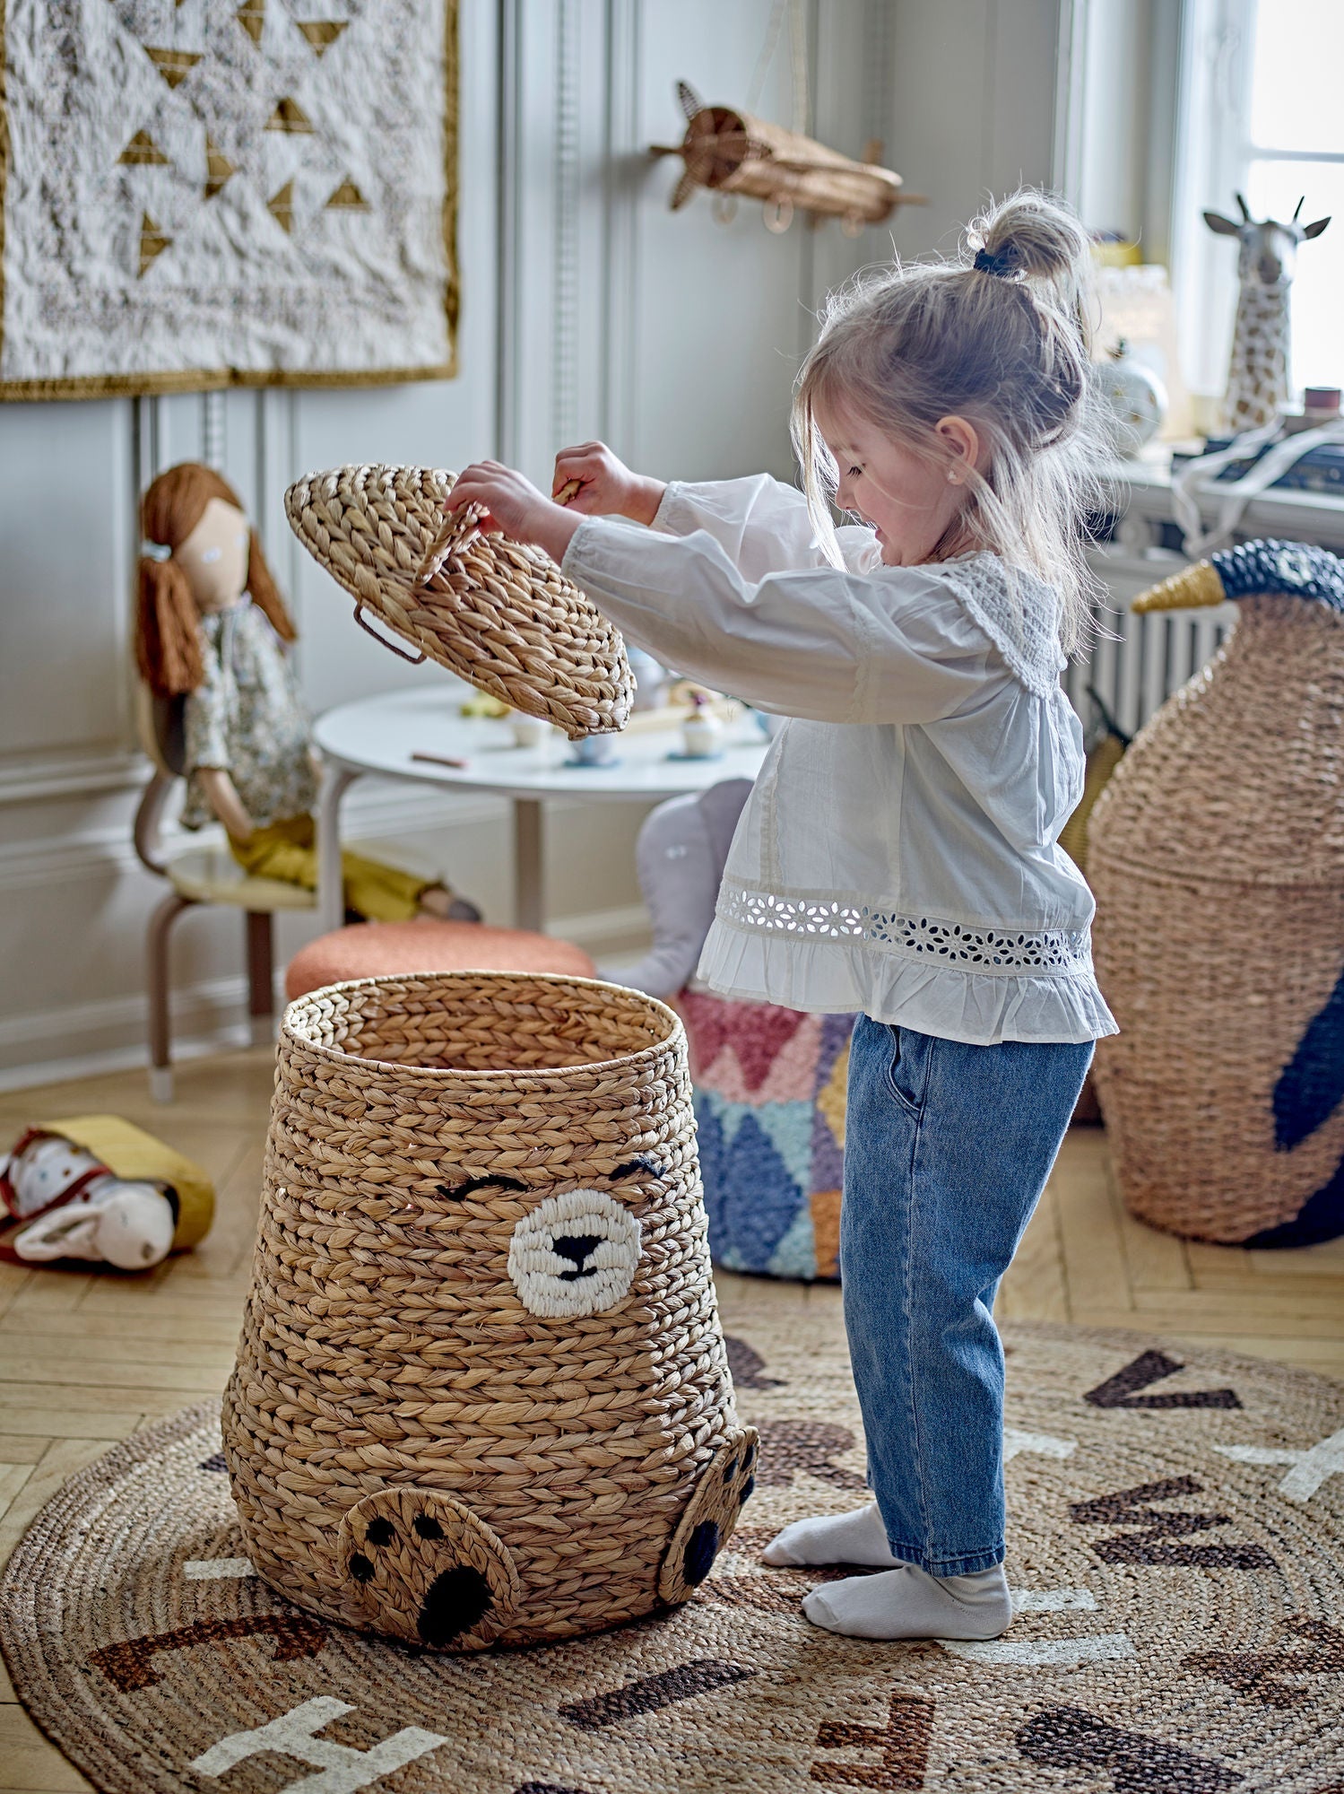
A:
{"label": "soft toy with mustard-yellow part lying on the wooden floor", "polygon": [[204,1240],[215,1191],[201,1170],[118,1116],[30,1127],[0,1161],[0,1258],[149,1270]]}

